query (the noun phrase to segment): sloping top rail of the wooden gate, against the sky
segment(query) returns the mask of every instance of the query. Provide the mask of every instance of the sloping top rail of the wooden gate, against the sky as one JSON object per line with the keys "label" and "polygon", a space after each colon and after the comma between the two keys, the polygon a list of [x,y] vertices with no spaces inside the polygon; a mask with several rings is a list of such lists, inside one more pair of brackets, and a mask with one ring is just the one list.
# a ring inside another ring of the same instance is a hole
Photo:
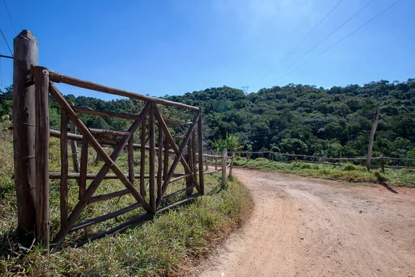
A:
{"label": "sloping top rail of the wooden gate, against the sky", "polygon": [[104,93],[114,94],[118,96],[129,97],[137,100],[147,101],[147,102],[154,102],[156,104],[171,106],[171,107],[178,107],[181,109],[191,109],[193,111],[199,111],[199,107],[193,107],[190,105],[186,105],[180,102],[172,102],[169,100],[161,99],[161,98],[154,98],[151,96],[145,96],[140,93],[135,93],[132,91],[127,91],[124,89],[116,89],[115,87],[108,87],[103,84],[98,84],[95,82],[90,82],[86,80],[81,80],[78,78],[74,78],[68,75],[64,75],[62,73],[56,71],[50,71],[49,78],[53,82],[62,82],[64,84],[71,84],[75,87],[82,87],[83,89],[91,89],[93,91],[101,91]]}

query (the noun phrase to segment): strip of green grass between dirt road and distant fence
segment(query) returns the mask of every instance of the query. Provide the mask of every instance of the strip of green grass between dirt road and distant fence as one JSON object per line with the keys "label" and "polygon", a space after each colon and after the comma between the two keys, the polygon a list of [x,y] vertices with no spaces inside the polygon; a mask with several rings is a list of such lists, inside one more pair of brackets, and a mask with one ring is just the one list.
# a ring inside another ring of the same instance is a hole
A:
{"label": "strip of green grass between dirt road and distant fence", "polygon": [[269,161],[265,158],[247,161],[246,158],[237,157],[234,161],[234,165],[242,168],[293,173],[301,176],[339,181],[367,182],[407,187],[414,187],[415,185],[415,170],[392,170],[390,168],[385,168],[385,173],[382,173],[380,169],[375,168],[368,172],[365,166],[357,166],[353,163],[342,163],[340,165],[335,164],[332,166],[317,163],[304,163],[301,161],[283,163]]}

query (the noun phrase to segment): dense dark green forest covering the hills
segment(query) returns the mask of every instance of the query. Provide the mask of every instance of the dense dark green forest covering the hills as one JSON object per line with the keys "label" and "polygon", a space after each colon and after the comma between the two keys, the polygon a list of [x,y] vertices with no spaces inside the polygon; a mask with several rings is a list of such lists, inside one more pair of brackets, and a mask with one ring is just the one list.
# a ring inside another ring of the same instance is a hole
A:
{"label": "dense dark green forest covering the hills", "polygon": [[[239,137],[243,150],[274,150],[325,157],[363,157],[367,153],[374,113],[380,119],[374,155],[415,158],[415,79],[407,82],[380,80],[363,86],[324,89],[302,84],[243,93],[232,87],[216,87],[164,96],[168,100],[203,107],[204,138],[209,141],[227,133]],[[8,122],[12,114],[12,91],[0,95],[0,115]],[[80,107],[138,112],[142,103],[73,95],[66,99]],[[50,124],[59,126],[59,109],[51,101]],[[176,119],[187,114],[169,111]],[[88,127],[127,129],[118,118],[83,116]]]}

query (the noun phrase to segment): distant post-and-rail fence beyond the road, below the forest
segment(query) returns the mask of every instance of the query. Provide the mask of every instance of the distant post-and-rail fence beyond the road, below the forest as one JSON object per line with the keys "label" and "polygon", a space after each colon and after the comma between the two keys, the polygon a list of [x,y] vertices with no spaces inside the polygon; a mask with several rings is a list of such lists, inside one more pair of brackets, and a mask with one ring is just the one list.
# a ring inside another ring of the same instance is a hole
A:
{"label": "distant post-and-rail fence beyond the road, below the forest", "polygon": [[[252,154],[268,154],[268,159],[270,161],[275,161],[275,157],[277,155],[285,156],[285,157],[292,157],[293,159],[291,161],[286,162],[293,162],[293,161],[302,161],[305,163],[322,163],[322,164],[335,164],[336,162],[341,163],[342,161],[366,161],[367,158],[347,158],[347,157],[320,157],[320,156],[310,156],[310,155],[303,155],[303,154],[288,154],[288,153],[281,153],[281,152],[273,152],[273,151],[256,151],[256,152],[247,152],[247,151],[239,151],[235,152],[235,154],[245,154],[247,159],[250,159],[252,157]],[[310,161],[307,159],[299,159],[297,158],[308,158],[308,159],[316,159],[316,160],[324,160],[324,161]],[[383,157],[380,155],[380,157],[371,157],[371,160],[374,161],[380,161],[380,168],[382,168],[382,171],[385,171],[385,160],[395,160],[395,161],[415,161],[415,159],[405,159],[405,158],[395,158],[395,157]],[[389,168],[408,168],[408,169],[415,169],[415,166],[389,166]]]}

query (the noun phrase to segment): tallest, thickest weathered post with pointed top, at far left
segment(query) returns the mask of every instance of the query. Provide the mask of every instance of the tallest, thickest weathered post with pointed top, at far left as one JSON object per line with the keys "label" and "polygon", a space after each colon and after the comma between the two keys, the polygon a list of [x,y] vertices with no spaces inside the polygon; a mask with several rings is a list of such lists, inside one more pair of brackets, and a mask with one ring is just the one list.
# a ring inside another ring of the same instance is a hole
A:
{"label": "tallest, thickest weathered post with pointed top, at far left", "polygon": [[30,245],[36,222],[35,206],[35,86],[30,65],[38,64],[38,44],[30,30],[13,39],[13,154],[17,196],[17,235]]}

